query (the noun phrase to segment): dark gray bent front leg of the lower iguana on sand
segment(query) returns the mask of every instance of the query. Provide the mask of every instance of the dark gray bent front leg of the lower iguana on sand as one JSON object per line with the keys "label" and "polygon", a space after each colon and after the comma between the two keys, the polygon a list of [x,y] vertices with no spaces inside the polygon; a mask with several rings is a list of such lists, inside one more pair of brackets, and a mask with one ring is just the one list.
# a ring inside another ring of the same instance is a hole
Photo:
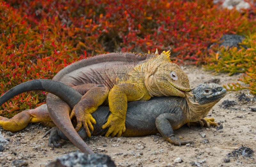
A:
{"label": "dark gray bent front leg of the lower iguana on sand", "polygon": [[177,116],[177,113],[164,113],[156,118],[156,128],[162,134],[164,139],[172,144],[181,146],[183,144],[193,143],[192,140],[175,137],[172,127],[182,126],[182,121],[182,116]]}

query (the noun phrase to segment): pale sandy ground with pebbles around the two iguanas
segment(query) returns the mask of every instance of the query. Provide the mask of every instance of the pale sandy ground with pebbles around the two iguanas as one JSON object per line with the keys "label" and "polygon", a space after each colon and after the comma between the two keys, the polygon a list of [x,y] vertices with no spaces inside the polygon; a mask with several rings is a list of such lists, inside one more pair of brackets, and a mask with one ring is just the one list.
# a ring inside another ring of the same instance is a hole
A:
{"label": "pale sandy ground with pebbles around the two iguanas", "polygon": [[[211,71],[203,71],[201,68],[192,66],[182,68],[188,74],[191,87],[196,87],[211,79],[220,79],[220,85],[236,82],[238,79],[238,75],[228,76],[223,73],[212,75]],[[251,101],[239,102],[238,97],[242,93],[251,98]],[[221,102],[227,99],[234,100],[237,104],[230,109],[219,107]],[[214,127],[200,129],[198,126],[189,129],[187,125],[184,125],[175,130],[176,136],[194,141],[195,144],[189,147],[172,145],[160,135],[120,138],[99,136],[91,137],[86,142],[93,150],[111,156],[117,166],[185,167],[198,162],[197,164],[201,166],[252,167],[256,166],[254,155],[252,157],[240,155],[236,159],[230,158],[229,163],[224,163],[224,159],[228,158],[227,154],[242,145],[256,150],[256,125],[254,124],[256,112],[252,112],[248,107],[256,108],[256,102],[252,95],[248,95],[247,89],[228,92],[208,115],[215,118],[216,122],[221,121],[223,129],[217,130]],[[1,128],[0,130],[4,138],[10,140],[10,144],[4,147],[3,152],[0,152],[0,167],[13,166],[13,160],[18,159],[27,160],[28,166],[44,167],[55,157],[77,150],[71,142],[62,148],[51,150],[47,145],[48,137],[41,139],[47,130],[42,125],[29,124],[24,130],[13,136],[8,135]],[[206,134],[205,138],[202,138],[202,133]],[[205,139],[208,139],[209,143],[202,142]],[[182,163],[174,163],[178,157],[182,159]]]}

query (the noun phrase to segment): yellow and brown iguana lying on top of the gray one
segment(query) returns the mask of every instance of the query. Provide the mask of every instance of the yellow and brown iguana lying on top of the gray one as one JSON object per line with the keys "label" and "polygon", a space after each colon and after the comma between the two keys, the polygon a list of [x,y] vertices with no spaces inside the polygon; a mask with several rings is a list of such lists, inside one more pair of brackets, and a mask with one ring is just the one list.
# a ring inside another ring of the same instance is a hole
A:
{"label": "yellow and brown iguana lying on top of the gray one", "polygon": [[[93,130],[92,123],[96,123],[91,113],[108,100],[112,114],[102,128],[109,127],[105,136],[111,133],[111,136],[116,134],[120,136],[125,131],[127,102],[147,101],[151,97],[164,95],[185,97],[184,92],[190,90],[188,76],[178,65],[170,63],[169,54],[169,51],[164,51],[161,55],[156,53],[148,56],[110,53],[84,59],[65,67],[53,80],[73,87],[84,96],[72,108],[73,106],[71,107],[67,102],[49,93],[46,103],[52,121],[85,152],[87,148],[76,131],[84,125],[90,136],[89,128]],[[45,85],[46,88],[49,86]],[[1,104],[3,102],[5,101],[1,101]],[[70,107],[73,109],[72,112]],[[76,131],[69,119],[70,112],[70,117],[76,116],[78,122]],[[34,120],[37,118],[41,116],[34,115]],[[23,119],[17,118],[13,121],[22,124]],[[1,126],[4,127],[8,123],[2,120],[4,118],[0,121]],[[13,125],[9,127],[9,131],[18,131],[20,128],[24,127]]]}

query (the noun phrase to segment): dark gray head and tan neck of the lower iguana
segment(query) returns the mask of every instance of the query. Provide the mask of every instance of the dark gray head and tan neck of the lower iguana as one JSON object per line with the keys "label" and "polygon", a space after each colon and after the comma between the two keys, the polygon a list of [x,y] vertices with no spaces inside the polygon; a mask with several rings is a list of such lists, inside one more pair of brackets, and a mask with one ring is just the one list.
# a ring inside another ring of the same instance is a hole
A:
{"label": "dark gray head and tan neck of the lower iguana", "polygon": [[196,122],[206,117],[212,107],[226,95],[226,92],[224,87],[215,83],[200,84],[190,92],[186,92],[189,122]]}

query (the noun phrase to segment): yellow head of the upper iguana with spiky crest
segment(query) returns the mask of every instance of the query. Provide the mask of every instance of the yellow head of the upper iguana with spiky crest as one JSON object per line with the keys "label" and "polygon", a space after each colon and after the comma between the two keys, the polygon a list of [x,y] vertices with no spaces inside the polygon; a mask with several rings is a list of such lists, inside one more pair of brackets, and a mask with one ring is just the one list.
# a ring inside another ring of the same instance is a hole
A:
{"label": "yellow head of the upper iguana with spiky crest", "polygon": [[185,92],[190,91],[188,76],[179,65],[171,63],[169,51],[156,53],[148,61],[145,84],[149,94],[154,96],[180,96],[186,97]]}

